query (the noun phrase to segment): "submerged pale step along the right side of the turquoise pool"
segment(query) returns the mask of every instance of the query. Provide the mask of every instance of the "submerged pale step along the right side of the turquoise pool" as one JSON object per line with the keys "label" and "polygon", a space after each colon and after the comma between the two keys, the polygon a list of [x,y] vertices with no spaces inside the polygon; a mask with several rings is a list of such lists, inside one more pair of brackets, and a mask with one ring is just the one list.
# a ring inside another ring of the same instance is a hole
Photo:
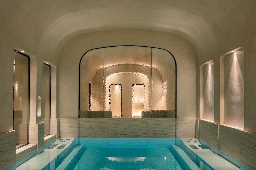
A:
{"label": "submerged pale step along the right side of the turquoise pool", "polygon": [[200,169],[190,158],[189,156],[178,146],[172,144],[172,148],[176,153],[179,159],[183,160],[185,164],[186,169],[193,169],[193,170],[198,170]]}

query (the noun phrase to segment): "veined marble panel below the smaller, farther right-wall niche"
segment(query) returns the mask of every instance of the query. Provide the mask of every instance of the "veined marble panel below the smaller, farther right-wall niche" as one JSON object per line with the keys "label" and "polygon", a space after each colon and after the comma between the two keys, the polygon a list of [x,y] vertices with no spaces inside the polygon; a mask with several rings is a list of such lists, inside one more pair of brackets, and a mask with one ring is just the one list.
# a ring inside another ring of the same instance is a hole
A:
{"label": "veined marble panel below the smaller, farther right-wall niche", "polygon": [[211,145],[211,122],[199,119],[199,139]]}

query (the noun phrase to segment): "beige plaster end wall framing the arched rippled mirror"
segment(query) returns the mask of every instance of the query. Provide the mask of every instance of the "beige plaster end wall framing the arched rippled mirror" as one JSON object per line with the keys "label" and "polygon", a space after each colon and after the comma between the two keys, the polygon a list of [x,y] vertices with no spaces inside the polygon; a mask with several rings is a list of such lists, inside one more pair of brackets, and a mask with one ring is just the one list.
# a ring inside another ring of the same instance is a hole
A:
{"label": "beige plaster end wall framing the arched rippled mirror", "polygon": [[[177,117],[196,117],[196,55],[189,43],[176,35],[147,30],[112,30],[83,34],[70,40],[59,59],[59,117],[78,117],[79,61],[93,48],[140,45],[163,48],[177,62]],[[186,106],[186,107],[184,107]]]}

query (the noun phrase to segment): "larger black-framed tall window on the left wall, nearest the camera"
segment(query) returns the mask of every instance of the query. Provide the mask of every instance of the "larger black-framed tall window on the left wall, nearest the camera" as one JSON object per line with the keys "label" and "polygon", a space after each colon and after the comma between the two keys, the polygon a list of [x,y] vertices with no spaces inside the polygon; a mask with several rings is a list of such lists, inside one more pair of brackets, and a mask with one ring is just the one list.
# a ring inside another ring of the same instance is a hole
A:
{"label": "larger black-framed tall window on the left wall, nearest the camera", "polygon": [[16,148],[18,148],[28,143],[30,60],[27,55],[14,51],[13,129],[16,130]]}

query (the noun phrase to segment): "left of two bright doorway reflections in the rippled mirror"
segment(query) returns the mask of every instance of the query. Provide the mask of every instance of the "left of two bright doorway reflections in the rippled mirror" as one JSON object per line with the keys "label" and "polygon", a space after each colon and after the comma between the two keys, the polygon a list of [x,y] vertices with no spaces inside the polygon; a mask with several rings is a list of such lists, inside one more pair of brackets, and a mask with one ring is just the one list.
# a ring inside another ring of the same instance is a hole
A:
{"label": "left of two bright doorway reflections in the rippled mirror", "polygon": [[122,86],[111,84],[109,86],[109,111],[113,117],[122,117]]}

